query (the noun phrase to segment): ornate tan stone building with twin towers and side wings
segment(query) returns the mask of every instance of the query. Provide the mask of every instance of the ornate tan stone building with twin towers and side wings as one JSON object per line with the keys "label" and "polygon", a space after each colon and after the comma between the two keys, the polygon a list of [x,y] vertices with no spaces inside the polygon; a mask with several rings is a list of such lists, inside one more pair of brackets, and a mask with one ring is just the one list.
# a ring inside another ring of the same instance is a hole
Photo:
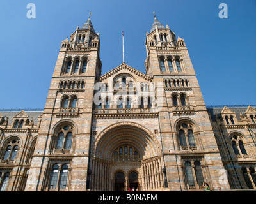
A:
{"label": "ornate tan stone building with twin towers and side wings", "polygon": [[0,191],[256,188],[255,107],[206,107],[185,41],[156,17],[145,45],[145,73],[102,75],[90,17],[61,42],[44,110],[0,112]]}

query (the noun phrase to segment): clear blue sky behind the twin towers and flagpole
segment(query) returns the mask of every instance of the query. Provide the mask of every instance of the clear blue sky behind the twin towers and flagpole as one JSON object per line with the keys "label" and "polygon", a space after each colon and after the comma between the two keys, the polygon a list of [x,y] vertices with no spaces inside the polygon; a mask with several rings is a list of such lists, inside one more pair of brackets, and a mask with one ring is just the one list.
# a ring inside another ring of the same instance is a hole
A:
{"label": "clear blue sky behind the twin towers and flagpole", "polygon": [[[28,3],[36,18],[28,19]],[[228,18],[220,19],[220,3]],[[61,41],[92,12],[102,74],[125,62],[145,73],[145,39],[157,19],[184,38],[205,105],[256,104],[255,0],[1,0],[1,108],[44,108]]]}

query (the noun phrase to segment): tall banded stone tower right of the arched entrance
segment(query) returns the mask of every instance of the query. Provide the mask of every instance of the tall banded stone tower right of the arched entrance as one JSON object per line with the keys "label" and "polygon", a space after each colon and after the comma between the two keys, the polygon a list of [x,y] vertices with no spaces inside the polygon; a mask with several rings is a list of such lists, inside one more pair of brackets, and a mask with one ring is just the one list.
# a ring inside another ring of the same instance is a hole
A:
{"label": "tall banded stone tower right of the arched entrance", "polygon": [[228,189],[220,182],[227,175],[184,39],[155,16],[145,44],[146,73],[162,91],[157,105],[168,188],[200,189],[207,181]]}

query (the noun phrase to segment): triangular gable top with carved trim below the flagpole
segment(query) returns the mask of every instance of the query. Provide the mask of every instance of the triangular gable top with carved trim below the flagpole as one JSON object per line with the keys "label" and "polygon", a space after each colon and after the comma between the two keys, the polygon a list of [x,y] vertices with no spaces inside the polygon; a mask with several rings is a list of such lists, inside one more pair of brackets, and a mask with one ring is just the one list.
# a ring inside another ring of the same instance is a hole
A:
{"label": "triangular gable top with carved trim below the flagpole", "polygon": [[127,75],[132,75],[132,76],[138,76],[143,78],[143,80],[152,82],[152,79],[148,77],[148,75],[145,75],[144,73],[132,68],[131,66],[128,66],[127,64],[123,63],[120,66],[116,67],[115,69],[112,69],[108,73],[102,75],[99,78],[99,81],[102,82],[103,80],[106,80],[109,77],[116,77],[117,75],[120,74],[127,74]]}

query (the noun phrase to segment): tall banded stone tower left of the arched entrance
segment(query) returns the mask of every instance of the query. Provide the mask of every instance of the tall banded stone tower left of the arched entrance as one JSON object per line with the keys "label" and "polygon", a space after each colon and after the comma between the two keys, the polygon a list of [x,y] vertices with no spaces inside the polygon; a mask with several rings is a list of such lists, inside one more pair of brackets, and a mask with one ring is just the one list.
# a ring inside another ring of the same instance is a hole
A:
{"label": "tall banded stone tower left of the arched entrance", "polygon": [[[86,190],[99,53],[100,37],[90,17],[61,42],[26,191]],[[72,180],[63,181],[68,175]]]}

